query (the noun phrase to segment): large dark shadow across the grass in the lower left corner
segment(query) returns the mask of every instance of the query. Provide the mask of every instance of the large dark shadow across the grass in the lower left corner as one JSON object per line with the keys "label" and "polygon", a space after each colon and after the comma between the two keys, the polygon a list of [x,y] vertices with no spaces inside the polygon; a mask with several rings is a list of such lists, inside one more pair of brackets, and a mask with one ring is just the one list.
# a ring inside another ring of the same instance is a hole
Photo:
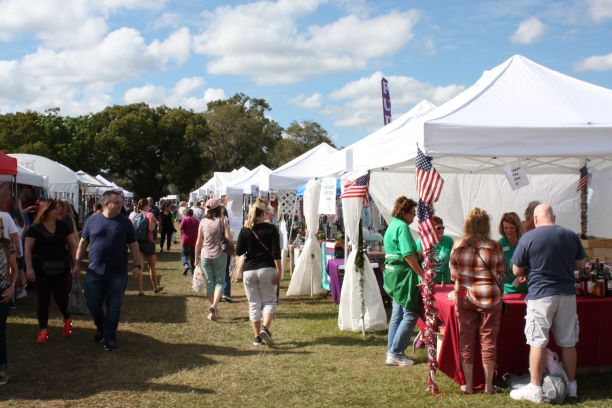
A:
{"label": "large dark shadow across the grass in the lower left corner", "polygon": [[[214,391],[209,388],[170,383],[172,380],[164,377],[219,364],[225,356],[254,356],[266,351],[196,343],[171,344],[152,336],[120,331],[119,347],[109,353],[101,344],[94,343],[94,329],[78,328],[72,338],[66,339],[58,327],[50,327],[47,344],[23,347],[18,343],[30,338],[37,330],[36,325],[12,323],[9,330],[10,381],[3,386],[0,401],[31,401],[32,398],[71,401],[107,391],[210,394]],[[18,352],[13,355],[12,350]],[[275,355],[309,354],[306,351],[268,350]],[[32,387],[36,388],[35,394]]]}

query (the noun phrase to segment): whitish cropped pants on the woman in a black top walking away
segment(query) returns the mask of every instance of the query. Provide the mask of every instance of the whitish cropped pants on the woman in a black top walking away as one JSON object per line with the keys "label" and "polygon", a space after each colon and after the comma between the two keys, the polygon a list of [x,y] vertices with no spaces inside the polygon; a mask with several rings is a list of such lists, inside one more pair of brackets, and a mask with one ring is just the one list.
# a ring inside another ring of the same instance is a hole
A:
{"label": "whitish cropped pants on the woman in a black top walking away", "polygon": [[274,315],[276,311],[276,285],[272,283],[275,268],[244,271],[243,282],[249,301],[249,319],[258,322],[263,314]]}

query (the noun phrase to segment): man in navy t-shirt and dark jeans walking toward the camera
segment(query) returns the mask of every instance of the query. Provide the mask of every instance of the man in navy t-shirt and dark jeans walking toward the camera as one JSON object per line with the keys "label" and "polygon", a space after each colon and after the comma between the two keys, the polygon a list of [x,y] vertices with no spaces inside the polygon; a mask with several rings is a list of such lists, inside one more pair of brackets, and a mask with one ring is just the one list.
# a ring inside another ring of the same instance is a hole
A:
{"label": "man in navy t-shirt and dark jeans walking toward the camera", "polygon": [[[96,343],[104,340],[104,349],[114,351],[117,348],[121,303],[128,281],[128,247],[134,258],[134,276],[137,281],[142,273],[142,256],[132,223],[120,214],[121,196],[109,190],[102,197],[102,212],[92,215],[83,228],[76,265],[89,244],[85,298],[96,324],[94,340]],[[104,304],[106,314],[102,307]]]}

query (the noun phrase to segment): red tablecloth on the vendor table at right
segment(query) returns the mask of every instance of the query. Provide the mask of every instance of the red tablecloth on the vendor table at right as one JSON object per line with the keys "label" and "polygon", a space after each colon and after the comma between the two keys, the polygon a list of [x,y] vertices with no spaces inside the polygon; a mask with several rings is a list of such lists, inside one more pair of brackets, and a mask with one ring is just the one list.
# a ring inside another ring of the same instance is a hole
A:
{"label": "red tablecloth on the vendor table at right", "polygon": [[[458,326],[454,302],[448,300],[452,286],[436,286],[435,307],[445,325],[444,339],[440,347],[438,367],[458,384],[465,384],[458,351]],[[504,296],[499,336],[497,338],[497,375],[523,374],[529,368],[529,346],[525,343],[525,300],[523,295]],[[607,316],[612,315],[612,298],[577,298],[580,341],[577,344],[578,367],[612,365],[612,328]],[[419,328],[424,327],[422,320]],[[558,352],[551,336],[549,347]],[[478,356],[480,351],[478,351]],[[474,364],[474,385],[484,384],[484,374],[479,357]]]}

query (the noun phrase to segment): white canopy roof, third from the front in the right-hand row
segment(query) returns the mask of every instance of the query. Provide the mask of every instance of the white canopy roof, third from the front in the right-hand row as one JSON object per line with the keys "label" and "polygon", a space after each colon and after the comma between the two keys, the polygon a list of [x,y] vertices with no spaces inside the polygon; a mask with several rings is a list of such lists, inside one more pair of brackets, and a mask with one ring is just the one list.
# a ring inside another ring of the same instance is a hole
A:
{"label": "white canopy roof, third from the front in the right-hand row", "polygon": [[338,150],[327,143],[321,143],[274,170],[259,189],[261,191],[295,190],[319,173],[321,166],[329,163],[332,155],[337,152]]}

